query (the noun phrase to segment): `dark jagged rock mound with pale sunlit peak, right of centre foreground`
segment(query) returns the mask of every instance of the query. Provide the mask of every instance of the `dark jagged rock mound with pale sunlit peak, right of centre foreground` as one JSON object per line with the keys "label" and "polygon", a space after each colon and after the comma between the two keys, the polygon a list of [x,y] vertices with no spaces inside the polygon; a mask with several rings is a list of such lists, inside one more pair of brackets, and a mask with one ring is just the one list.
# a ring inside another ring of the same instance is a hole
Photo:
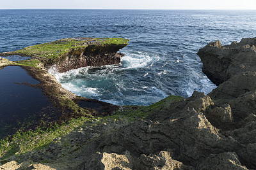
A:
{"label": "dark jagged rock mound with pale sunlit peak, right of centre foreground", "polygon": [[[218,134],[218,129],[202,113],[194,109],[182,111],[183,114],[175,114],[175,117],[170,113],[173,119],[161,122],[144,120],[124,127],[114,134],[104,136],[104,139],[99,138],[99,147],[108,153],[129,150],[134,155],[156,153],[170,148],[173,159],[188,166],[195,166],[196,162],[210,153],[234,151],[240,147],[234,139]],[[116,150],[116,146],[121,147]]]}

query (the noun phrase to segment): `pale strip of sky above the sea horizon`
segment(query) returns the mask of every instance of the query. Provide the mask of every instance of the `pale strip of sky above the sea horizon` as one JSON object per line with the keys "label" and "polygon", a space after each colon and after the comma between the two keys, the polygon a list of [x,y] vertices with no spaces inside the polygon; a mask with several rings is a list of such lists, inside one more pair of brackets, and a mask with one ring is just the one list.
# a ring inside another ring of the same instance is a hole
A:
{"label": "pale strip of sky above the sea horizon", "polygon": [[256,10],[256,0],[0,0],[0,9]]}

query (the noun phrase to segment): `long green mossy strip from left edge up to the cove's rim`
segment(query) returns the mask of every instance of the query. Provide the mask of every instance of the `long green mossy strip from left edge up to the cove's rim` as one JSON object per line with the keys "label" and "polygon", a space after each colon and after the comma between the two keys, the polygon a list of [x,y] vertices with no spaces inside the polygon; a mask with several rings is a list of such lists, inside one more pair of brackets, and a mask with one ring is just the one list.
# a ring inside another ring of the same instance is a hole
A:
{"label": "long green mossy strip from left edge up to the cove's rim", "polygon": [[[26,132],[18,131],[12,137],[0,140],[0,161],[6,162],[6,159],[13,155],[19,157],[20,154],[45,148],[54,142],[54,139],[62,138],[80,127],[105,124],[113,120],[127,119],[130,122],[140,120],[146,118],[150,114],[156,113],[159,109],[168,106],[168,103],[173,103],[182,99],[184,98],[180,96],[168,96],[150,106],[124,106],[120,110],[115,111],[113,115],[107,117],[72,118],[68,122],[62,124],[38,127],[35,130]],[[70,105],[74,106],[74,104]]]}

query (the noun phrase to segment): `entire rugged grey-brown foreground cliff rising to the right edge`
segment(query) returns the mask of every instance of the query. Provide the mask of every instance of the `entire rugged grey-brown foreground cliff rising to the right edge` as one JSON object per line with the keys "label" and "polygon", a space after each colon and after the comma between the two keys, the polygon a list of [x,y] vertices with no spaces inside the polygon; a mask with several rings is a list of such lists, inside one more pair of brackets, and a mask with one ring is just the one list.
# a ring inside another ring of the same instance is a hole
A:
{"label": "entire rugged grey-brown foreground cliff rising to the right edge", "polygon": [[199,50],[204,73],[219,85],[207,96],[120,108],[22,157],[19,144],[0,168],[256,169],[255,45],[248,38]]}

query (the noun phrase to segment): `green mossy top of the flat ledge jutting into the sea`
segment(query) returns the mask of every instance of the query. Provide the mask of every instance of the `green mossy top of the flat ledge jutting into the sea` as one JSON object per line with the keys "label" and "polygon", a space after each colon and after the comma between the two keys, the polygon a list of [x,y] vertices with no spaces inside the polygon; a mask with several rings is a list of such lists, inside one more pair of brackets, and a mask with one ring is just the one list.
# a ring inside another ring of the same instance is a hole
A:
{"label": "green mossy top of the flat ledge jutting into the sea", "polygon": [[[28,46],[14,52],[0,53],[1,55],[21,55],[32,57],[32,60],[22,60],[19,62],[11,62],[0,57],[0,66],[22,65],[40,67],[40,64],[51,65],[55,62],[66,59],[68,55],[80,55],[84,52],[87,46],[90,50],[99,50],[100,52],[108,52],[108,45],[118,45],[123,48],[128,45],[129,39],[124,38],[65,38],[52,41],[50,43],[43,43],[39,45]],[[91,46],[92,45],[92,46]],[[99,45],[99,46],[93,46]],[[118,46],[115,48],[117,49]]]}

